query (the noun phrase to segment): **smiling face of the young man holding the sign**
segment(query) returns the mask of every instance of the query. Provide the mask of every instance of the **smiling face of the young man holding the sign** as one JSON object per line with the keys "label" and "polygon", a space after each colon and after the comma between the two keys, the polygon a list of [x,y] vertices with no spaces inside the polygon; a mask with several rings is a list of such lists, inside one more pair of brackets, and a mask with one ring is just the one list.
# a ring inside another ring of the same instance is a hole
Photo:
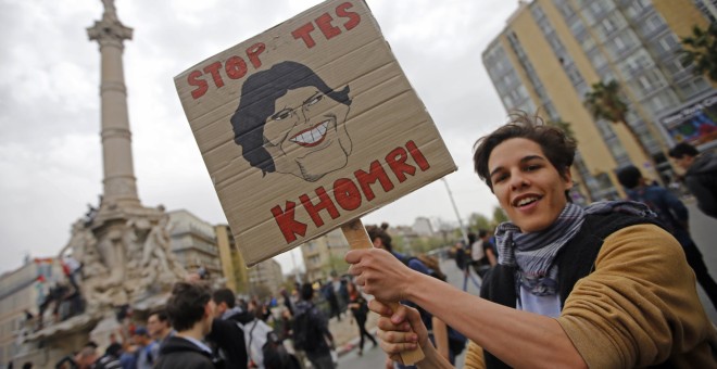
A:
{"label": "smiling face of the young man holding the sign", "polygon": [[493,193],[523,232],[548,228],[567,204],[573,188],[569,170],[563,176],[534,141],[513,138],[501,142],[488,158]]}

